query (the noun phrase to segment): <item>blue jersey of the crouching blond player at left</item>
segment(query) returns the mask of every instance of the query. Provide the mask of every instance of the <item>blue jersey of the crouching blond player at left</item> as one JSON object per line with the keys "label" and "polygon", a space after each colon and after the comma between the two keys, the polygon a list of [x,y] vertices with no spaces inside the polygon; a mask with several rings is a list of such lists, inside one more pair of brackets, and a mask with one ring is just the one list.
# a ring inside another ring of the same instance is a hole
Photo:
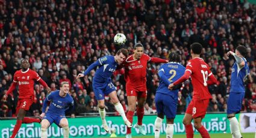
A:
{"label": "blue jersey of the crouching blond player at left", "polygon": [[65,115],[65,110],[69,109],[70,106],[73,106],[73,98],[67,94],[66,97],[60,96],[60,90],[51,92],[43,101],[42,112],[45,113],[45,109],[48,101],[51,101],[51,105],[47,113],[55,115]]}

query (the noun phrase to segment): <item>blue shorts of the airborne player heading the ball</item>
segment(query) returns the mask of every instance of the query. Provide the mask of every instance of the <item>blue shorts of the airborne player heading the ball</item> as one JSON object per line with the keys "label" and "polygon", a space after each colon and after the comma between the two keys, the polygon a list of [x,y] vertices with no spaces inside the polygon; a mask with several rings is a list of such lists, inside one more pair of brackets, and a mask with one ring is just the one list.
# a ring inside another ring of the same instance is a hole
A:
{"label": "blue shorts of the airborne player heading the ball", "polygon": [[108,82],[105,83],[93,82],[92,88],[95,93],[96,100],[103,100],[105,95],[116,91],[116,87],[113,85],[111,80],[108,80]]}

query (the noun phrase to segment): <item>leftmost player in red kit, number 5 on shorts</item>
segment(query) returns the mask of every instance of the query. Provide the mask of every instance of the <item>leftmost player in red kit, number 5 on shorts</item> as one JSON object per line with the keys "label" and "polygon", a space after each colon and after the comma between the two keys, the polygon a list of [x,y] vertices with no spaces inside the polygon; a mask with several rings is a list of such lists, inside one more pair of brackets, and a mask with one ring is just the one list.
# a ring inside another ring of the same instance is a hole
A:
{"label": "leftmost player in red kit, number 5 on shorts", "polygon": [[16,71],[13,76],[13,83],[11,83],[10,88],[4,95],[4,98],[6,99],[8,95],[16,88],[16,85],[19,85],[19,100],[16,107],[17,122],[15,127],[13,128],[13,134],[11,135],[11,138],[14,138],[16,136],[22,123],[40,123],[40,119],[25,117],[27,111],[30,109],[31,104],[33,104],[34,101],[34,81],[36,80],[40,82],[47,89],[48,92],[51,91],[51,88],[49,88],[45,81],[43,81],[41,77],[39,77],[36,71],[30,70],[29,67],[30,64],[28,60],[22,59],[22,69]]}

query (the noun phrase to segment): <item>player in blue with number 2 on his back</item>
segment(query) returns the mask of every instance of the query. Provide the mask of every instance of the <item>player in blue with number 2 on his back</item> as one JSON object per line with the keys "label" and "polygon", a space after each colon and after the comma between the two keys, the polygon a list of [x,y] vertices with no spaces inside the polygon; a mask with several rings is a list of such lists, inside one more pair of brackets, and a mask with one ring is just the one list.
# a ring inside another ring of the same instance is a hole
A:
{"label": "player in blue with number 2 on his back", "polygon": [[176,116],[178,104],[178,91],[180,85],[176,85],[173,90],[168,86],[183,76],[186,68],[179,64],[180,55],[178,53],[169,54],[169,63],[163,64],[158,71],[160,84],[155,94],[155,106],[157,107],[157,119],[155,119],[155,138],[160,137],[160,130],[164,115],[167,119],[166,137],[173,136],[173,120]]}

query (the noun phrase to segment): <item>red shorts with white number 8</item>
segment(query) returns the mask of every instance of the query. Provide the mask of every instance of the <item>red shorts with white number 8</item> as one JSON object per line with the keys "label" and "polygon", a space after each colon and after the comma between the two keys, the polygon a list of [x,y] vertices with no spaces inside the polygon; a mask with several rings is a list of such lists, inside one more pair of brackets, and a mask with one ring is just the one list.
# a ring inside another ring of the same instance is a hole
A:
{"label": "red shorts with white number 8", "polygon": [[192,99],[192,101],[189,103],[189,106],[187,106],[186,113],[192,115],[193,118],[204,118],[208,104],[209,99]]}

